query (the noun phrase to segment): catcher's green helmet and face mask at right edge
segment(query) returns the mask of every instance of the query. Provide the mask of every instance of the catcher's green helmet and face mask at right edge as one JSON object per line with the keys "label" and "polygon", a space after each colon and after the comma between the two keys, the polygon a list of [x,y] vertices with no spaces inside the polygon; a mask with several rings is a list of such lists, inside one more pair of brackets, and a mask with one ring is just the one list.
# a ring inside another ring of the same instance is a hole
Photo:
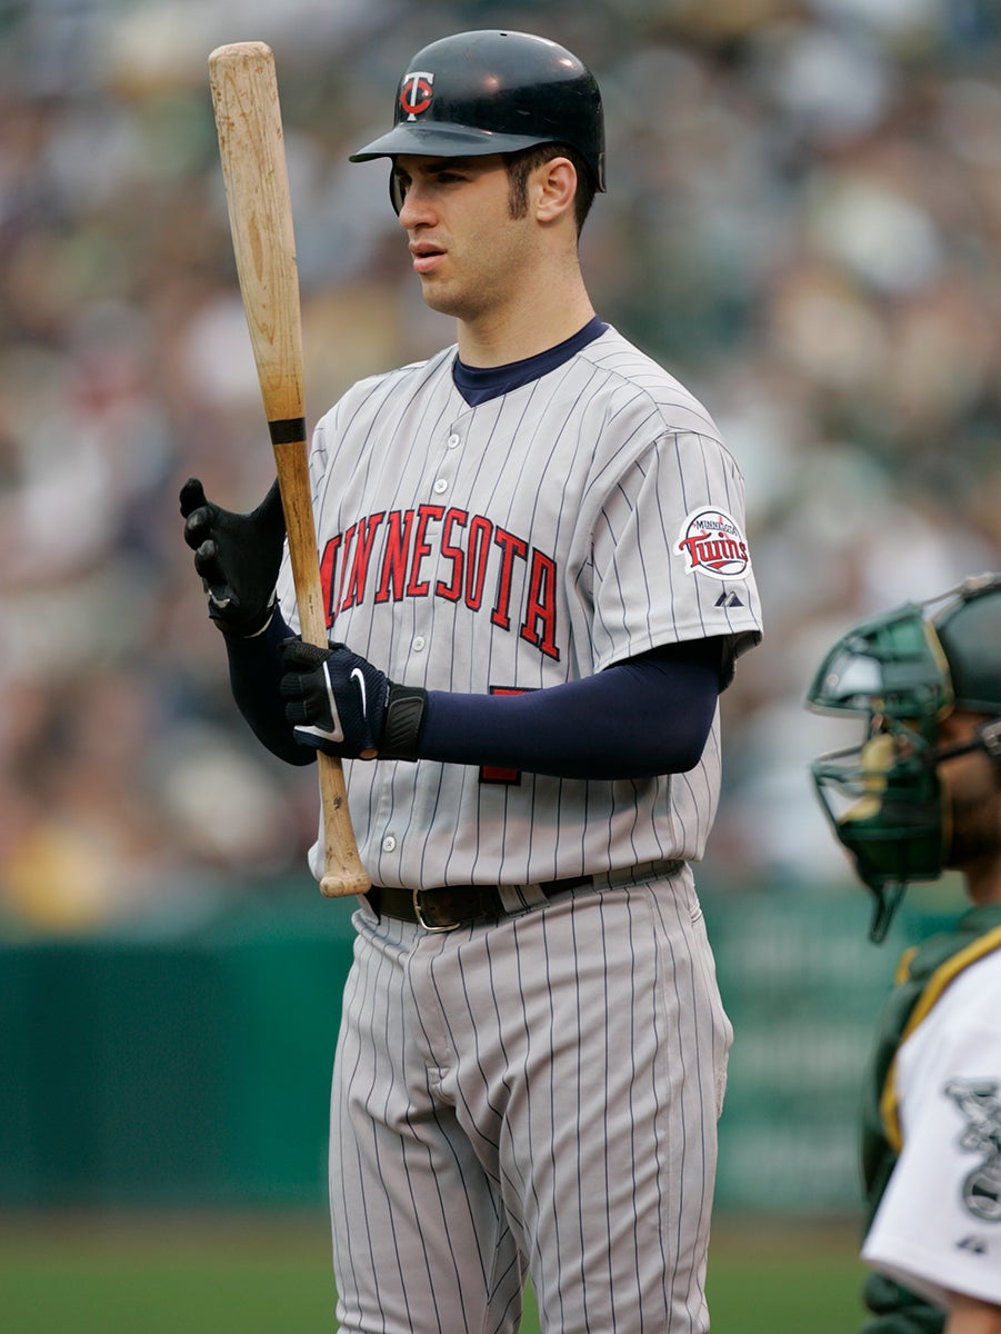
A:
{"label": "catcher's green helmet and face mask at right edge", "polygon": [[976,575],[854,627],[821,663],[806,704],[865,719],[861,746],[821,755],[810,774],[876,898],[869,938],[882,940],[908,883],[942,874],[950,811],[937,764],[978,747],[1001,758],[1001,720],[969,746],[937,744],[956,708],[1001,715],[1001,575]]}

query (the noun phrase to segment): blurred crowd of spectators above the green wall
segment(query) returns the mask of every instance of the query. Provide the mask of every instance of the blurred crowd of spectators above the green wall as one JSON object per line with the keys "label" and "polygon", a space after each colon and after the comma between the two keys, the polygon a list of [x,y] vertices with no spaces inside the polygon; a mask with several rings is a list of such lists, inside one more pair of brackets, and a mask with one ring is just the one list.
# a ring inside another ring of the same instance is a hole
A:
{"label": "blurred crowd of spectators above the green wall", "polygon": [[802,707],[820,655],[1001,566],[996,0],[21,0],[0,7],[4,931],[177,923],[284,875],[316,892],[315,778],[236,715],[177,510],[189,475],[232,508],[273,478],[207,57],[276,53],[315,422],[452,340],[385,164],[347,155],[413,51],[477,27],[594,69],[592,296],[746,475],[766,642],[724,696],[706,874],[845,874],[806,774],[854,740]]}

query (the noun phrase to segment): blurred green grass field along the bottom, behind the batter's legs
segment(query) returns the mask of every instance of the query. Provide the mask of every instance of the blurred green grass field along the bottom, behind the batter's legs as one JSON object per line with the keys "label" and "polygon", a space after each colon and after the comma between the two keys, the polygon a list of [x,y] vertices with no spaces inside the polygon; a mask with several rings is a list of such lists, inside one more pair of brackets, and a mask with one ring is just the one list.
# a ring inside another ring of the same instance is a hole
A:
{"label": "blurred green grass field along the bottom, behind the batter's legs", "polygon": [[[852,1229],[717,1226],[713,1334],[850,1334]],[[327,1222],[307,1218],[0,1219],[3,1334],[331,1334]],[[521,1334],[537,1334],[529,1309]]]}

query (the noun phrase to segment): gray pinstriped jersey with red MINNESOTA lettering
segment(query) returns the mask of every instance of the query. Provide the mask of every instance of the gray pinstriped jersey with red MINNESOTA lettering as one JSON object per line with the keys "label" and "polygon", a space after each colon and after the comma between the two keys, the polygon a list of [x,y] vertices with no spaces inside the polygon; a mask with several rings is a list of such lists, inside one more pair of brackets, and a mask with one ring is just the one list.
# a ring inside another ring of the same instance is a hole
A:
{"label": "gray pinstriped jersey with red MINNESOTA lettering", "polygon": [[[517,692],[664,644],[761,636],[744,482],[702,406],[614,329],[471,407],[456,348],[353,386],[311,450],[331,638],[391,680]],[[288,558],[279,596],[297,626]],[[380,884],[521,884],[697,859],[718,711],[690,772],[594,782],[347,760]],[[319,848],[312,864],[320,872]]]}

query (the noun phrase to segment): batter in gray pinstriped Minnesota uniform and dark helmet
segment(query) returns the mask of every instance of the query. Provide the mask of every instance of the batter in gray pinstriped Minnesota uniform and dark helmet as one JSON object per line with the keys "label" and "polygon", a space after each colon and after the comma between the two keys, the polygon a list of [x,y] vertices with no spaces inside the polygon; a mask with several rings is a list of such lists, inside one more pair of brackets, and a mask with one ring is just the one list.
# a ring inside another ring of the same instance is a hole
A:
{"label": "batter in gray pinstriped Minnesota uniform and dark helmet", "polygon": [[730,1026],[689,863],[761,634],[742,478],[589,301],[604,128],[576,56],[432,43],[375,159],[457,342],[316,427],[329,648],[297,638],[276,494],[181,496],[236,699],[291,763],[348,762],[373,882],[333,1075],[337,1318],[513,1331],[530,1274],[545,1330],[693,1334]]}

